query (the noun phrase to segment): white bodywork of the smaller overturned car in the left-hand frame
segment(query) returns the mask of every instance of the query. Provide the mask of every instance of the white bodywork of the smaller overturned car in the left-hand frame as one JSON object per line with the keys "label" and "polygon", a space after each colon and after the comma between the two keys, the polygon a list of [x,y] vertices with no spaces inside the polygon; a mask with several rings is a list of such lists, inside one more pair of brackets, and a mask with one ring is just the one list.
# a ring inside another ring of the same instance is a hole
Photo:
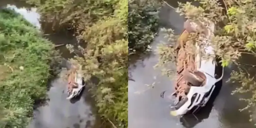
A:
{"label": "white bodywork of the smaller overturned car in the left-hand frame", "polygon": [[83,80],[83,77],[81,74],[76,72],[75,81],[78,84],[77,88],[73,88],[72,92],[68,95],[67,99],[74,98],[78,96],[81,91],[83,90],[83,87],[85,86],[85,82]]}

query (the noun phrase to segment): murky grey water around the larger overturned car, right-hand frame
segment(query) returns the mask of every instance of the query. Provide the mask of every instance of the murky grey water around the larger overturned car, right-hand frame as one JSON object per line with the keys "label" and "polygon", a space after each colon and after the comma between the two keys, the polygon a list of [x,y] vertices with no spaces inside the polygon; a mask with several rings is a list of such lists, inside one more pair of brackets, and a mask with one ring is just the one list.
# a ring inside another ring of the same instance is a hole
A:
{"label": "murky grey water around the larger overturned car, right-hand frame", "polygon": [[[177,6],[176,1],[169,2]],[[160,11],[161,27],[172,28],[177,34],[183,29],[184,18],[179,16],[174,9],[164,6]],[[160,27],[160,28],[161,28]],[[166,41],[162,32],[155,38],[152,48],[156,49],[160,41]],[[173,81],[162,76],[160,70],[153,69],[158,57],[154,51],[144,59],[130,66],[131,75],[128,81],[128,125],[129,128],[253,128],[249,122],[249,113],[240,112],[238,109],[245,107],[239,101],[241,95],[230,95],[231,91],[238,85],[226,83],[230,72],[235,67],[225,68],[223,81],[218,83],[214,92],[217,96],[212,104],[208,104],[198,114],[184,116],[182,118],[172,117],[169,114],[169,101],[160,97],[162,91],[173,91]],[[247,61],[246,57],[241,61]],[[255,69],[250,69],[254,70]],[[156,82],[154,88],[145,84]]]}

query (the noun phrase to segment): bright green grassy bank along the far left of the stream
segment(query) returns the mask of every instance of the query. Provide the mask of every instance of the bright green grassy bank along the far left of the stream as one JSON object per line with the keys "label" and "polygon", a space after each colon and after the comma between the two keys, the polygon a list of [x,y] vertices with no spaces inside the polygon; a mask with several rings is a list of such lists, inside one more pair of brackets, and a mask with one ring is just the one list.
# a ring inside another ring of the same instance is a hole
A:
{"label": "bright green grassy bank along the far left of the stream", "polygon": [[13,10],[0,10],[1,128],[24,128],[46,98],[54,46]]}

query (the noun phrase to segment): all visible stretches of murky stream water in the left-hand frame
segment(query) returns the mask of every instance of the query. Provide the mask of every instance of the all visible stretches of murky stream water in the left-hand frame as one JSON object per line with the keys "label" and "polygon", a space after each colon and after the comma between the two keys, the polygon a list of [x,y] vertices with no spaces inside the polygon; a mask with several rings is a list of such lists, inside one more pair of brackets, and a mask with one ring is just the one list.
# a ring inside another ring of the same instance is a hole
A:
{"label": "all visible stretches of murky stream water in the left-hand frame", "polygon": [[[40,15],[36,13],[36,9],[32,8],[27,11],[27,5],[23,2],[8,0],[1,1],[2,7],[10,7],[22,14],[29,22],[41,28],[38,19]],[[44,29],[44,28],[42,28]],[[48,33],[47,33],[48,34]],[[54,33],[47,36],[55,44],[75,44],[76,39],[67,33]],[[65,46],[58,47],[63,58],[71,58]],[[68,68],[70,65],[64,60],[63,67]],[[88,90],[84,89],[83,94],[79,98],[69,101],[66,100],[67,81],[61,78],[53,79],[50,82],[51,88],[48,92],[49,101],[46,105],[40,106],[34,110],[34,120],[28,128],[102,128],[95,116],[95,110],[92,107],[93,99]]]}

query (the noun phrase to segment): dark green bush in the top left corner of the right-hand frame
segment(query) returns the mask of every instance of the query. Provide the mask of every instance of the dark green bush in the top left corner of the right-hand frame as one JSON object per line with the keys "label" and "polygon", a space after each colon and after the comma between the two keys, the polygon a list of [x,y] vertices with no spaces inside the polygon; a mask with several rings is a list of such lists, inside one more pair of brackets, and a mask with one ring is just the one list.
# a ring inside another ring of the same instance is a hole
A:
{"label": "dark green bush in the top left corner of the right-hand frame", "polygon": [[158,11],[161,4],[153,0],[129,0],[128,37],[130,52],[144,51],[158,30]]}

